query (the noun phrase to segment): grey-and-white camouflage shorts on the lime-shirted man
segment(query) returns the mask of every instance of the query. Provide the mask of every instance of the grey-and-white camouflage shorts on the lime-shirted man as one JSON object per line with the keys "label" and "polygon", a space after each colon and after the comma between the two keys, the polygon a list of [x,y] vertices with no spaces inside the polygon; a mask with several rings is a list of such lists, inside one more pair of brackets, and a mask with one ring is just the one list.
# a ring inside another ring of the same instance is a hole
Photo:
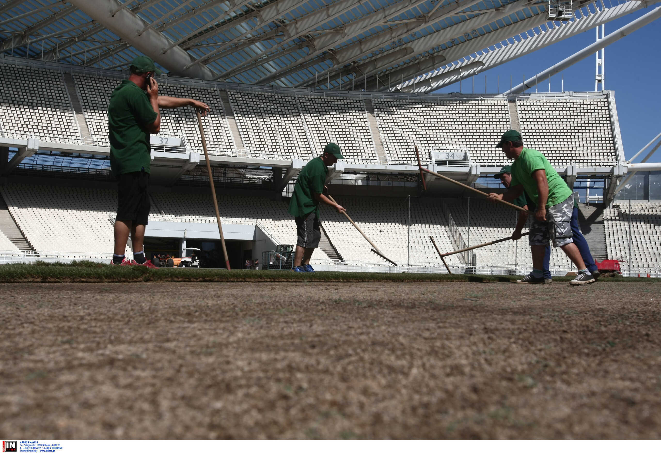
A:
{"label": "grey-and-white camouflage shorts on the lime-shirted man", "polygon": [[533,220],[528,243],[530,245],[549,245],[549,239],[552,239],[553,247],[562,247],[574,242],[570,224],[573,212],[574,194],[563,202],[549,206],[546,210],[547,222]]}

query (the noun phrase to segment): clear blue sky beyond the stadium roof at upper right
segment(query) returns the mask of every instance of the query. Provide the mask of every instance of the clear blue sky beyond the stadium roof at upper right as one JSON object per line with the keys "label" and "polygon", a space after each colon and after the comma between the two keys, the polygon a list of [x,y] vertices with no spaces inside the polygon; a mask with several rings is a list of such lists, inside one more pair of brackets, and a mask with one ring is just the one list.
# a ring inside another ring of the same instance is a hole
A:
{"label": "clear blue sky beyond the stadium roof at upper right", "polygon": [[[633,14],[608,22],[606,34],[652,11],[656,5],[643,8]],[[615,91],[617,116],[619,117],[622,142],[627,159],[637,153],[652,138],[661,132],[661,19],[640,28],[608,46],[605,50],[606,89]],[[500,75],[500,92],[518,85],[523,77],[529,79],[574,52],[592,44],[596,39],[594,28],[547,48],[533,52],[514,62],[505,63],[475,76],[475,93],[497,92]],[[594,91],[594,54],[551,77],[551,91],[561,91],[561,75],[564,75],[565,91]],[[532,90],[535,88],[533,87]],[[539,91],[548,91],[549,84],[539,83]],[[438,93],[459,91],[459,83],[445,87]],[[462,82],[462,91],[471,93],[471,81]],[[645,155],[649,148],[642,153]],[[636,159],[640,161],[641,157]],[[661,149],[650,158],[650,162],[661,161]]]}

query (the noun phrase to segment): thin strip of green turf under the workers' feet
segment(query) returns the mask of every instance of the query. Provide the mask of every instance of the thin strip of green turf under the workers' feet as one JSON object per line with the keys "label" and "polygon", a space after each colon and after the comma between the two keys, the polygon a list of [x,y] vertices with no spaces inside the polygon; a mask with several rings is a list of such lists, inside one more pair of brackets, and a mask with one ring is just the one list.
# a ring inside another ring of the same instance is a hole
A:
{"label": "thin strip of green turf under the workers' feet", "polygon": [[[292,272],[291,270],[149,269],[91,261],[0,266],[0,282],[513,282],[521,276],[408,274],[406,272]],[[573,277],[553,277],[568,282]],[[601,278],[600,282],[656,282],[659,278]]]}

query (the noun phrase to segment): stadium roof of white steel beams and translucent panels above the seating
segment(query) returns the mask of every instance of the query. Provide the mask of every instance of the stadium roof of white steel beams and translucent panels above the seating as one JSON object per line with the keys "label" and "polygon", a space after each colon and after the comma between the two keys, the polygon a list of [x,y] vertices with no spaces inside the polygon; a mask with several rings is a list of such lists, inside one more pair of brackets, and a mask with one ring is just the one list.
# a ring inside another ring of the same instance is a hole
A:
{"label": "stadium roof of white steel beams and translucent panels above the seating", "polygon": [[424,93],[656,3],[612,1],[574,0],[571,19],[551,21],[549,0],[5,0],[0,52],[122,70],[145,54],[182,77]]}

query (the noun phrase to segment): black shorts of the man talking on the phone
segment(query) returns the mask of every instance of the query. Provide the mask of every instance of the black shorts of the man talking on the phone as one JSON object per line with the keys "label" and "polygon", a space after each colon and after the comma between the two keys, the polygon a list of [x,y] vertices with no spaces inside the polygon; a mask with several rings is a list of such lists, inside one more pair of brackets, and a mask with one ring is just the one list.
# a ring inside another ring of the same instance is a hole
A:
{"label": "black shorts of the man talking on the phone", "polygon": [[120,222],[147,225],[149,220],[149,173],[122,173],[117,180],[117,217]]}

